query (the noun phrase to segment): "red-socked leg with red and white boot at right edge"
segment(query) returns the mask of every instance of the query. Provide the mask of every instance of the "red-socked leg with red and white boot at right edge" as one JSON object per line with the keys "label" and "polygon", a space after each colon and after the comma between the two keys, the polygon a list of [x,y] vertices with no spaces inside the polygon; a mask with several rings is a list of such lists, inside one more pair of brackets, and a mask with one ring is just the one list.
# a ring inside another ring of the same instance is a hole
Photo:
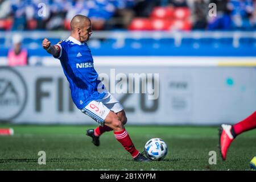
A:
{"label": "red-socked leg with red and white boot at right edge", "polygon": [[243,119],[243,121],[236,123],[235,125],[221,125],[220,127],[220,153],[223,160],[226,160],[226,154],[230,144],[234,138],[241,133],[256,128],[256,111],[249,117]]}

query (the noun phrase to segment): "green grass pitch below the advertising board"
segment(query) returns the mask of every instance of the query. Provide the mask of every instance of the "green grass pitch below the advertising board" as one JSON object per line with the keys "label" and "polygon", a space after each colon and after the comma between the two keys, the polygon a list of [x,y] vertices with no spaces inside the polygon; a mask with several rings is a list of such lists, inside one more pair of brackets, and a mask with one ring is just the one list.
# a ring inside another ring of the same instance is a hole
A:
{"label": "green grass pitch below the advertising board", "polygon": [[[85,135],[94,126],[13,127],[13,136],[0,137],[0,170],[250,170],[256,155],[256,130],[238,136],[222,162],[218,151],[218,127],[126,126],[135,147],[143,151],[151,138],[168,145],[163,161],[138,163],[123,150],[113,132],[100,138],[96,147]],[[46,152],[46,165],[38,164],[38,152]],[[209,151],[216,151],[217,164],[209,164]]]}

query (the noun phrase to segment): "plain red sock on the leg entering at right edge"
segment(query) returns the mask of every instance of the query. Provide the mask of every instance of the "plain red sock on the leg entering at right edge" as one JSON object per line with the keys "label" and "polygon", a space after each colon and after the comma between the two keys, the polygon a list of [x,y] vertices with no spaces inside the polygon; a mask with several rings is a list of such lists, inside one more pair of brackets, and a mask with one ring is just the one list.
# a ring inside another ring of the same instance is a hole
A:
{"label": "plain red sock on the leg entering at right edge", "polygon": [[243,121],[235,124],[233,126],[234,133],[239,135],[245,131],[255,129],[256,128],[256,111],[251,114],[249,117],[243,119]]}

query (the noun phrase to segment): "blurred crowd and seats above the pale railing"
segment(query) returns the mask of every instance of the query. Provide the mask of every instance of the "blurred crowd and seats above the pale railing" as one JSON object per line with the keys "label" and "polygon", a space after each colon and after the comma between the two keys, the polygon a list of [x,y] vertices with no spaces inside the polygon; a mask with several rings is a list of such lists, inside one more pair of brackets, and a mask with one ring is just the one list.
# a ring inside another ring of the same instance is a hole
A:
{"label": "blurred crowd and seats above the pale railing", "polygon": [[[217,16],[209,17],[210,3],[216,4]],[[69,30],[73,15],[82,14],[92,19],[94,30],[125,30],[140,18],[144,22],[157,19],[156,24],[189,23],[185,30],[255,30],[255,4],[254,0],[1,0],[0,29]],[[143,30],[172,30],[172,26],[146,27]],[[176,28],[184,30],[181,25]]]}

